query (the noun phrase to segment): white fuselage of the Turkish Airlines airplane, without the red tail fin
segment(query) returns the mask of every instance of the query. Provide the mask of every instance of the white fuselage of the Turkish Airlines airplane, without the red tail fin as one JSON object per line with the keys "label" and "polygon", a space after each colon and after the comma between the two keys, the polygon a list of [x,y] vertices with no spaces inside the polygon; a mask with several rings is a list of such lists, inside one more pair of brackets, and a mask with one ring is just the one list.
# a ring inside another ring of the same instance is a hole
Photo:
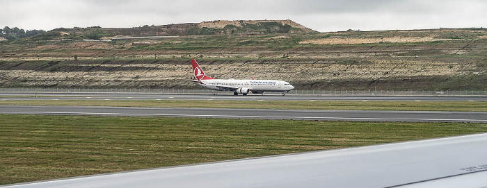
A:
{"label": "white fuselage of the Turkish Airlines airplane, without the red tail fin", "polygon": [[[210,79],[200,80],[196,83],[201,87],[218,91],[231,91],[221,86],[248,88],[252,92],[289,92],[294,86],[282,80],[234,80],[234,79]],[[218,87],[217,87],[218,86]]]}

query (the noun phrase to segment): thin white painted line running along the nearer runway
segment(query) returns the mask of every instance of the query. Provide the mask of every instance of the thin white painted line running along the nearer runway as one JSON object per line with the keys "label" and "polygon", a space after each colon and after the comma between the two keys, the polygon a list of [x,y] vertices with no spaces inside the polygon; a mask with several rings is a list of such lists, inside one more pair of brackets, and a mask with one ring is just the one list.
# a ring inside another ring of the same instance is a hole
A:
{"label": "thin white painted line running along the nearer runway", "polygon": [[114,115],[114,116],[152,116],[152,117],[223,117],[223,118],[255,118],[255,119],[337,119],[337,120],[394,120],[394,121],[482,121],[487,119],[420,119],[420,118],[375,118],[375,117],[282,117],[282,116],[240,116],[240,115],[211,115],[211,114],[138,114],[113,112],[0,112],[0,114],[83,114],[83,115]]}

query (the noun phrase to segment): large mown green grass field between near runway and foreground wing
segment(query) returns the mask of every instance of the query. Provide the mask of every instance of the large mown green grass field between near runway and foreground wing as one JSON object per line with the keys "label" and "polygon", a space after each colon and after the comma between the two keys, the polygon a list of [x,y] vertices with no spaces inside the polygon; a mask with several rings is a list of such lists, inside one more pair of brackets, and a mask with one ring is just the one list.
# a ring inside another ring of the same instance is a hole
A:
{"label": "large mown green grass field between near runway and foreground wing", "polygon": [[0,185],[487,131],[487,123],[17,114],[0,122]]}

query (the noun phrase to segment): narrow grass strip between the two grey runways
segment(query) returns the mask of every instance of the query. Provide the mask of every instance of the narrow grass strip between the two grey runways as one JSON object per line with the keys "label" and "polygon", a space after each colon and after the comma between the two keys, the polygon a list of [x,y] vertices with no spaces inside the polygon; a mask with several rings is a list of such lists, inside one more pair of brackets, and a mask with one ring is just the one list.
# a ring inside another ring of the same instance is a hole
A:
{"label": "narrow grass strip between the two grey runways", "polygon": [[247,108],[289,110],[487,111],[487,101],[19,100],[0,101],[0,105],[89,105],[161,108]]}

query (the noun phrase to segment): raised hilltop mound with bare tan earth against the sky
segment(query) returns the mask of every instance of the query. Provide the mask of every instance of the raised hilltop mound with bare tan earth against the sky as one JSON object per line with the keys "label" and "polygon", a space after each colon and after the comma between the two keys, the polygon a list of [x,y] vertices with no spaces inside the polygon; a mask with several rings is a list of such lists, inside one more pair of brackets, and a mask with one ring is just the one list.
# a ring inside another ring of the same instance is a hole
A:
{"label": "raised hilltop mound with bare tan earth against the sky", "polygon": [[266,35],[271,33],[317,33],[287,20],[217,20],[211,22],[140,26],[134,28],[56,28],[29,40],[111,40],[114,37],[185,36],[185,35]]}

